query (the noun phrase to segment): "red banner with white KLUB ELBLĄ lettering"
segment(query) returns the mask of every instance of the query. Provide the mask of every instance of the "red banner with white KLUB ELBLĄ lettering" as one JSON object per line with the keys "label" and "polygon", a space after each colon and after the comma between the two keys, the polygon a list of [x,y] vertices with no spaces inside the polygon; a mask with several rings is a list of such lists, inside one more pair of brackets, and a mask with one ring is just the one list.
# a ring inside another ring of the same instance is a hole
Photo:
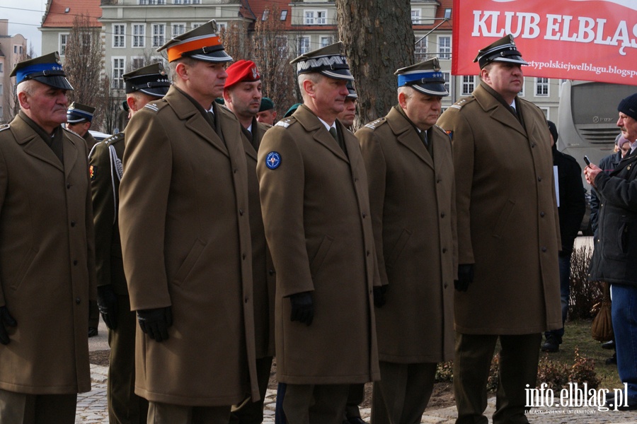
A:
{"label": "red banner with white KLUB ELBL\u0104 lettering", "polygon": [[454,0],[452,73],[506,34],[525,76],[637,86],[637,0]]}

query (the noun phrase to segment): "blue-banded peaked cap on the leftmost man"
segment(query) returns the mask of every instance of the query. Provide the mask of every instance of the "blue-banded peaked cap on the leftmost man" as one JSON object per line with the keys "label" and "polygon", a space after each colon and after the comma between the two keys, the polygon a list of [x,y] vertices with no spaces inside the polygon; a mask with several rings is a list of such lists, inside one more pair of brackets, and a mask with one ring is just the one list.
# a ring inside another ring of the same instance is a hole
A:
{"label": "blue-banded peaked cap on the leftmost man", "polygon": [[59,61],[58,52],[18,62],[9,76],[16,77],[16,85],[23,81],[35,80],[54,88],[73,90],[62,68],[62,62]]}

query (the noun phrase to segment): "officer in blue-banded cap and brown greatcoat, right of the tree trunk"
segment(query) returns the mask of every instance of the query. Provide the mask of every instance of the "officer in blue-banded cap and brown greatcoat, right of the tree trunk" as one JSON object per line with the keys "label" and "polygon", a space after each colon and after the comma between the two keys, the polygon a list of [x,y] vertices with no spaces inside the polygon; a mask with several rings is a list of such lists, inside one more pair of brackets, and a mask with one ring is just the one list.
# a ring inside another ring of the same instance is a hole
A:
{"label": "officer in blue-banded cap and brown greatcoat, right of the tree trunk", "polygon": [[375,311],[381,369],[375,424],[420,423],[436,365],[454,353],[454,163],[449,136],[435,125],[449,93],[437,58],[396,76],[398,105],[356,133],[384,297]]}

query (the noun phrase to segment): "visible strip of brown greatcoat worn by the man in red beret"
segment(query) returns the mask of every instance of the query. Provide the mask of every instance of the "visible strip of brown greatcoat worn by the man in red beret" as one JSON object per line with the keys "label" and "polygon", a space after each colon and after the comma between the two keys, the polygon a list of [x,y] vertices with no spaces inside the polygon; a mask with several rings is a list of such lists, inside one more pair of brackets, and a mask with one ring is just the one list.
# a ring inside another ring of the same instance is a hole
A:
{"label": "visible strip of brown greatcoat worn by the man in red beret", "polygon": [[[252,274],[254,290],[254,339],[256,358],[274,356],[274,309],[276,275],[272,255],[265,242],[263,217],[259,200],[259,180],[256,175],[257,151],[263,134],[270,125],[252,119],[251,141],[243,138],[248,162],[248,206],[250,208],[250,232],[252,235]],[[245,131],[243,134],[246,134]],[[246,135],[247,136],[247,135]]]}

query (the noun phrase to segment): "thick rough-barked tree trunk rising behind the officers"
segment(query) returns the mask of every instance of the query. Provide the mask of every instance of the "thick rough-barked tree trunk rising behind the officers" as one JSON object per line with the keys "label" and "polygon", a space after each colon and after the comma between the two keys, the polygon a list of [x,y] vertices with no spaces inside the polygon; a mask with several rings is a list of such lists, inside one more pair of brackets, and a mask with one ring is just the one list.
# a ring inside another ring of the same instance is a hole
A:
{"label": "thick rough-barked tree trunk rising behind the officers", "polygon": [[358,93],[355,128],[398,102],[394,72],[414,63],[409,0],[336,0],[338,35]]}

